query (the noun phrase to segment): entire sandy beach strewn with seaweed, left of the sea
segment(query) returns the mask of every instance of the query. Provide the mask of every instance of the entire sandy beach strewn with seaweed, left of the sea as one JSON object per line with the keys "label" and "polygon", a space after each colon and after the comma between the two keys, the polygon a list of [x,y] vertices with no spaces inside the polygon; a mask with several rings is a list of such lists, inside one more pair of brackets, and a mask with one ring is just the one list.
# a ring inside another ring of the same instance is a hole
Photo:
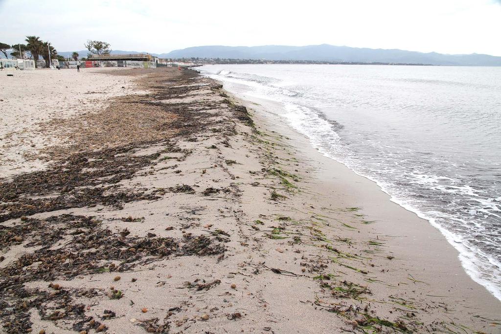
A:
{"label": "entire sandy beach strewn with seaweed, left of the sea", "polygon": [[498,333],[438,230],[176,68],[0,73],[1,331]]}

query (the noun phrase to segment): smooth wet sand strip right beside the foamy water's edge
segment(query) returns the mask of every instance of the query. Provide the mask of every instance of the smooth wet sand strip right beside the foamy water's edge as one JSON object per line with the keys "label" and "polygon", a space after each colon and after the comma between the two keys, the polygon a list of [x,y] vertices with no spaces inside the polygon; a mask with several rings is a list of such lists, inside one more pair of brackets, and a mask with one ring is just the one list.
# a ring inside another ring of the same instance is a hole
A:
{"label": "smooth wet sand strip right beside the foamy water's edge", "polygon": [[[435,253],[437,256],[440,254],[438,257],[445,258],[445,260],[440,259],[440,262],[447,264],[447,268],[444,269],[442,267],[440,271],[453,272],[453,275],[457,276],[457,279],[454,280],[455,285],[465,285],[467,288],[464,288],[464,290],[480,290],[480,292],[476,293],[480,293],[482,298],[488,300],[486,305],[489,305],[490,303],[490,305],[494,308],[495,306],[501,307],[501,300],[497,299],[495,295],[484,285],[475,281],[466,271],[466,268],[463,267],[460,259],[462,254],[454,247],[454,245],[452,245],[452,242],[449,241],[447,236],[442,233],[442,228],[435,226],[436,224],[434,225],[429,221],[429,219],[421,217],[417,212],[415,212],[415,210],[406,208],[397,201],[393,200],[392,196],[384,191],[384,189],[376,181],[356,173],[345,164],[325,155],[324,153],[321,153],[310,144],[309,139],[306,136],[292,129],[290,125],[277,125],[281,123],[279,120],[283,120],[279,114],[273,113],[273,117],[276,117],[277,119],[273,123],[274,125],[271,126],[270,122],[265,120],[267,116],[270,116],[270,113],[266,110],[267,108],[270,108],[270,106],[272,106],[271,108],[280,108],[280,103],[257,98],[253,99],[253,101],[250,99],[240,99],[240,101],[242,101],[242,104],[247,108],[259,110],[258,117],[260,118],[260,122],[267,124],[267,126],[272,129],[278,130],[280,133],[286,133],[287,136],[292,137],[297,151],[301,152],[301,154],[306,156],[308,159],[311,159],[314,164],[319,165],[315,171],[315,178],[318,179],[319,186],[322,186],[324,183],[332,184],[331,188],[338,191],[341,190],[343,192],[342,195],[338,195],[339,197],[351,198],[351,201],[347,202],[346,205],[353,205],[355,207],[359,206],[361,207],[360,212],[365,213],[368,217],[377,218],[375,223],[381,223],[376,227],[377,232],[380,232],[380,234],[383,235],[390,235],[398,232],[399,235],[406,236],[409,231],[413,231],[412,233],[415,234],[415,240],[412,242],[414,250],[410,251],[410,253],[418,250],[420,247],[429,246],[426,244],[426,241],[436,241],[432,242],[433,249],[436,249]],[[263,105],[256,105],[257,101],[261,101]],[[339,176],[340,174],[342,177]],[[339,179],[345,179],[348,181],[341,181]],[[376,203],[370,203],[372,201]],[[395,221],[393,221],[395,216],[405,217],[405,219],[398,219],[403,226],[401,226],[400,223],[395,223]],[[422,228],[422,231],[419,231],[420,228]],[[394,247],[398,251],[403,250],[403,246],[398,245],[398,243],[391,245],[390,247]],[[396,252],[397,251],[395,251],[395,253]],[[410,255],[407,255],[407,257],[410,257]],[[430,262],[437,260],[437,258],[430,254],[426,257],[430,260]],[[423,264],[422,261],[417,261],[416,259],[411,260],[411,262]],[[459,268],[460,270],[457,270],[456,268]],[[430,278],[436,277],[435,274],[428,274],[427,276]],[[440,273],[440,276],[444,276],[443,272]],[[481,292],[482,290],[484,291]]]}

